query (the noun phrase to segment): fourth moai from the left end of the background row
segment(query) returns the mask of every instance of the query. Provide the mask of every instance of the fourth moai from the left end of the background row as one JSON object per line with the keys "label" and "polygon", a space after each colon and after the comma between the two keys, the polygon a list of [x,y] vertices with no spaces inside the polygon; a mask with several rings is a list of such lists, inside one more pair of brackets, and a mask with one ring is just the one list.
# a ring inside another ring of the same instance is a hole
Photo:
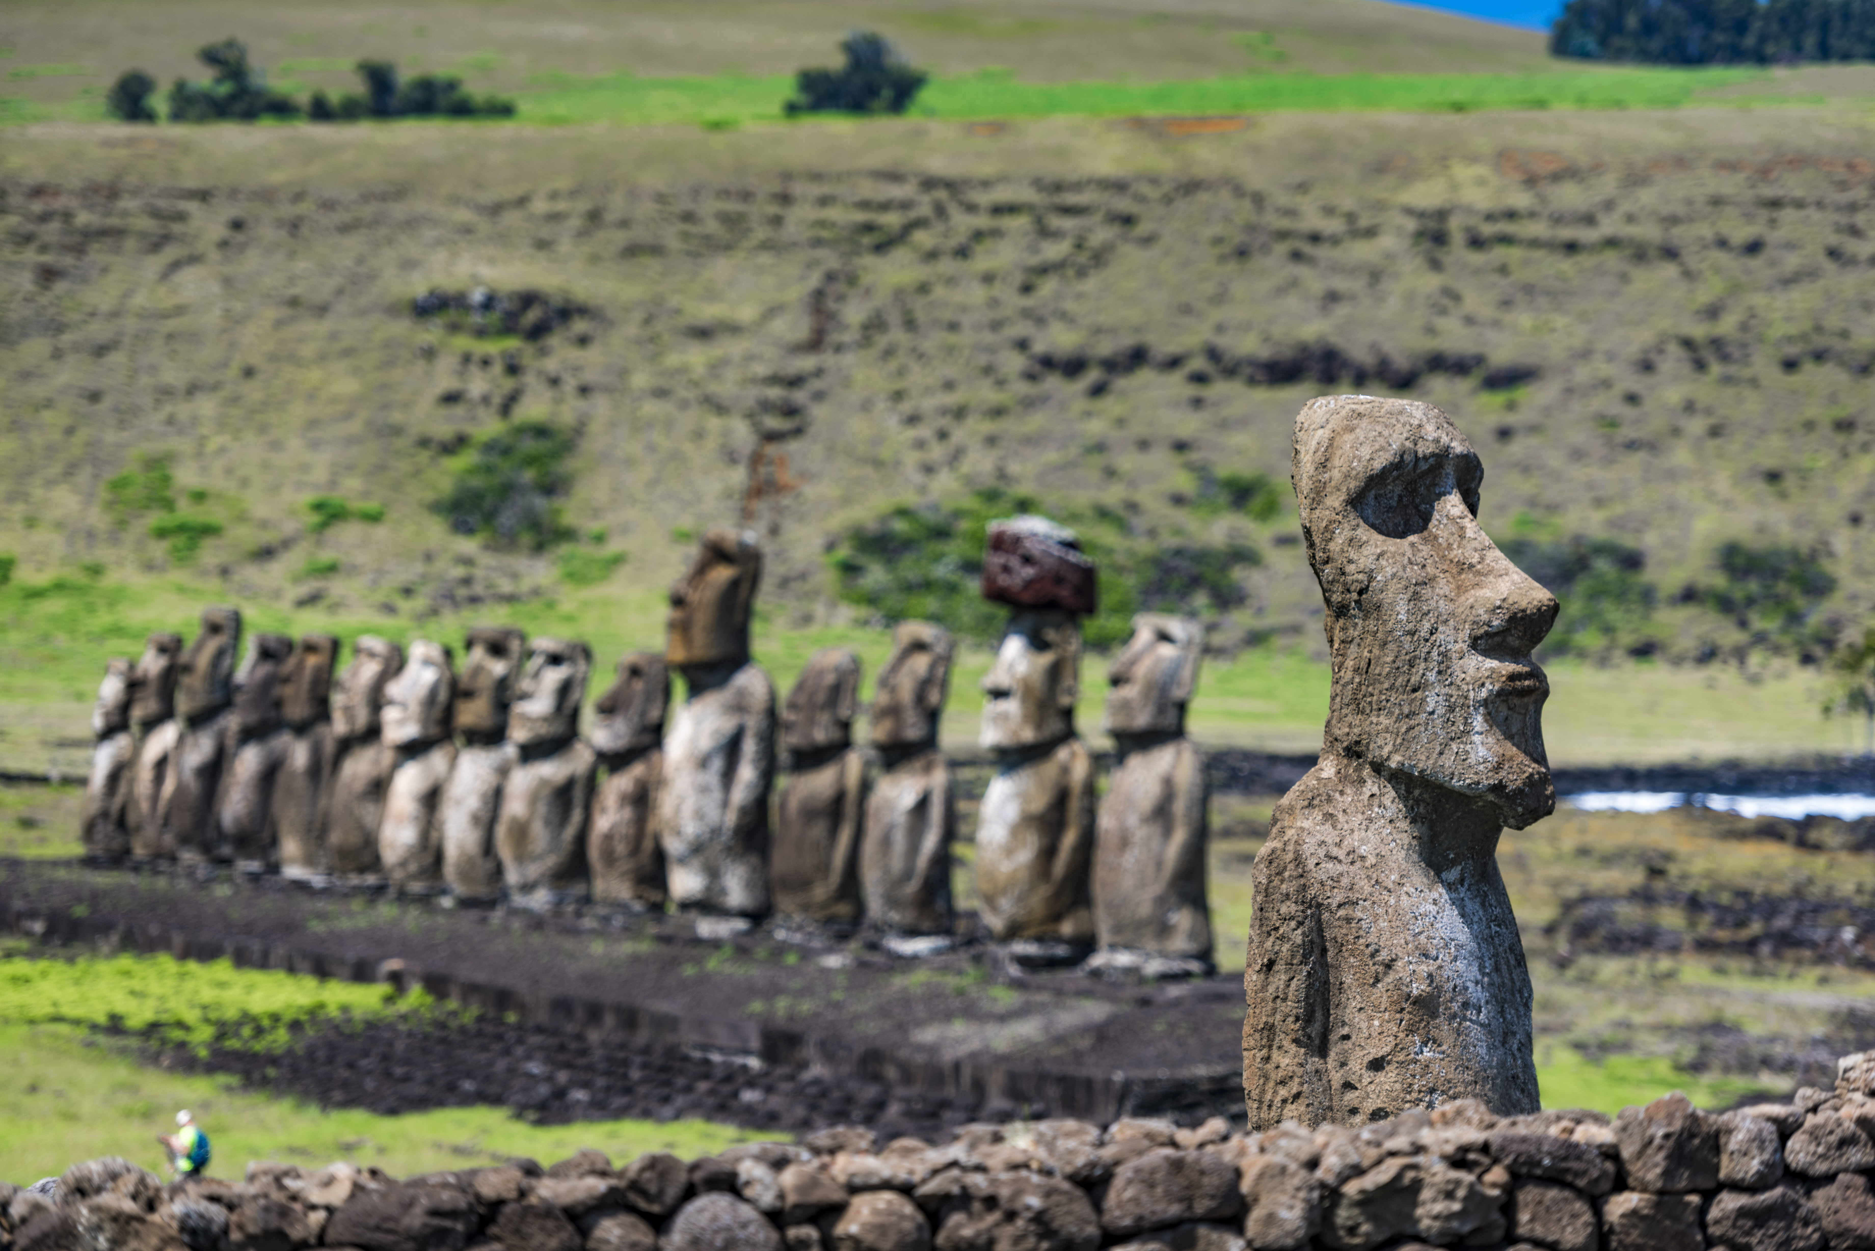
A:
{"label": "fourth moai from the left end of the background row", "polygon": [[274,780],[287,760],[287,731],[279,720],[279,677],[292,656],[285,634],[255,634],[234,675],[229,716],[229,763],[216,803],[216,859],[244,872],[262,872],[274,859],[268,842]]}

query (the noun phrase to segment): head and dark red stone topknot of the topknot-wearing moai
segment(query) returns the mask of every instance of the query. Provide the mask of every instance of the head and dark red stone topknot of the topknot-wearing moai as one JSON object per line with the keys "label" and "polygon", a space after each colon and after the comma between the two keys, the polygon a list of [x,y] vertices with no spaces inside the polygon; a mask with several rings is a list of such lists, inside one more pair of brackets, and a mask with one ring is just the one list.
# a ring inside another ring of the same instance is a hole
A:
{"label": "head and dark red stone topknot of the topknot-wearing moai", "polygon": [[982,679],[982,746],[1059,743],[1074,733],[1080,623],[1097,606],[1095,568],[1074,531],[1048,518],[990,523],[982,598],[1011,604],[996,664]]}

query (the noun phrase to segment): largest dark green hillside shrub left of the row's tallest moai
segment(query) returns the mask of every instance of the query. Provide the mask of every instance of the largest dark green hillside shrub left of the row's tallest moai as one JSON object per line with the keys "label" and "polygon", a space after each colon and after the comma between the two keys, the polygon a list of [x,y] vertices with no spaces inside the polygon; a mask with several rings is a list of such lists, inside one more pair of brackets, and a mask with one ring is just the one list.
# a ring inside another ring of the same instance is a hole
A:
{"label": "largest dark green hillside shrub left of the row's tallest moai", "polygon": [[516,422],[458,458],[456,480],[431,508],[458,535],[542,551],[572,536],[559,499],[572,486],[574,437],[548,422]]}

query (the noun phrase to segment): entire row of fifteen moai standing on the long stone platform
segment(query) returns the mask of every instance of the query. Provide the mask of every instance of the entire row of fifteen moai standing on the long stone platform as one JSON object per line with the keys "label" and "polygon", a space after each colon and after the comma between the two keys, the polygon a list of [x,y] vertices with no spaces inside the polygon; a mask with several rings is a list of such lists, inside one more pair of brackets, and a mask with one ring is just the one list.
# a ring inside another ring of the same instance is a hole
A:
{"label": "entire row of fifteen moai standing on the long stone platform", "polygon": [[[851,737],[849,651],[808,662],[776,726],[748,647],[759,578],[750,535],[711,531],[671,591],[666,651],[619,662],[587,739],[585,643],[476,628],[458,673],[444,645],[416,640],[405,655],[364,636],[334,685],[332,636],[259,634],[236,668],[240,615],[212,608],[188,649],[152,634],[141,660],[111,662],[86,852],[465,902],[864,921],[941,945],[954,928],[954,797],[938,750],[951,636],[894,628],[872,752]],[[1099,947],[1108,966],[1206,968],[1204,760],[1183,733],[1202,628],[1134,619],[1106,703],[1121,760],[1097,808],[1074,733],[1091,561],[1052,521],[1003,521],[982,593],[1011,608],[984,679],[982,746],[996,756],[975,857],[984,927],[1026,962]],[[666,730],[671,668],[686,700]],[[786,778],[771,805],[778,746]]]}

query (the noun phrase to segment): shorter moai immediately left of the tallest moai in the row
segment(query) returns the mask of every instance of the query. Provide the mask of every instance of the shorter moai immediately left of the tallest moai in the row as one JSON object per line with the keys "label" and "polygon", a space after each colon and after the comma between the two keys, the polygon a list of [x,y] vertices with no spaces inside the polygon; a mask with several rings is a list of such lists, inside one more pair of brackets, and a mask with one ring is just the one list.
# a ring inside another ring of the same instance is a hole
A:
{"label": "shorter moai immediately left of the tallest moai in the row", "polygon": [[658,775],[664,771],[664,713],[671,671],[654,651],[619,660],[611,690],[598,700],[592,750],[606,780],[592,795],[587,865],[592,902],[632,910],[664,908],[664,850],[658,846]]}

